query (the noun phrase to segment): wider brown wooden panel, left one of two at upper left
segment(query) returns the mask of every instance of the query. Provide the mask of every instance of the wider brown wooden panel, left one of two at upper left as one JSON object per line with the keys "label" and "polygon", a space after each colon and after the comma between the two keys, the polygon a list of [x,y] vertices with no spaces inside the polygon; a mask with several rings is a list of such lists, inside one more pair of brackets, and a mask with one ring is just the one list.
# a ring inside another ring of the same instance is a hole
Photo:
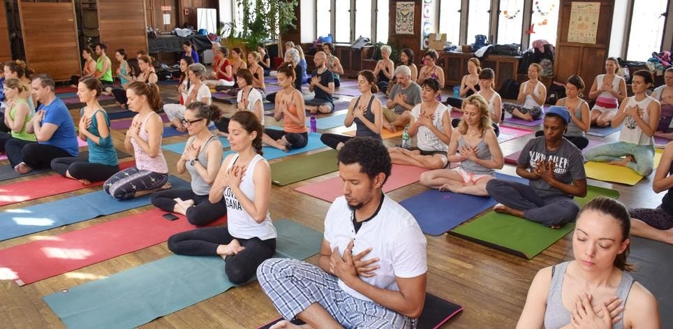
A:
{"label": "wider brown wooden panel, left one of two at upper left", "polygon": [[26,59],[33,71],[48,73],[54,80],[70,80],[71,75],[80,75],[73,1],[19,1],[19,13]]}

